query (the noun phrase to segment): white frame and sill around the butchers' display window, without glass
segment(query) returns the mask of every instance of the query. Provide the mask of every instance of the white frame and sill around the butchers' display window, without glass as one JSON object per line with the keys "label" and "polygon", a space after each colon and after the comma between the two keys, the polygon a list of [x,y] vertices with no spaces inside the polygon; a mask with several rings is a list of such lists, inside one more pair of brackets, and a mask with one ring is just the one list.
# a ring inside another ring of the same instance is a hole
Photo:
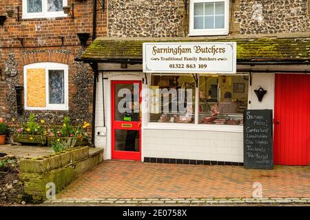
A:
{"label": "white frame and sill around the butchers' display window, without glass", "polygon": [[[155,74],[158,75],[158,74]],[[180,76],[182,74],[165,74],[165,76]],[[163,75],[164,76],[164,75]],[[248,74],[220,74],[220,76],[249,76]],[[199,75],[198,75],[198,88],[195,89],[196,94],[195,97],[199,97]],[[148,78],[148,88],[150,89],[152,85],[152,74],[149,75]],[[250,100],[250,86],[248,87],[248,100]],[[147,94],[147,109],[143,109],[142,111],[147,112],[145,115],[145,118],[143,120],[146,121],[146,126],[143,127],[143,129],[159,129],[159,130],[188,130],[188,131],[219,131],[219,132],[237,132],[237,133],[243,133],[243,126],[240,125],[227,125],[227,124],[198,124],[198,106],[199,106],[199,99],[195,99],[195,120],[194,123],[169,123],[169,122],[149,122],[150,118],[150,105],[151,105],[151,94]],[[247,109],[250,109],[249,103]],[[144,124],[144,123],[143,123]]]}

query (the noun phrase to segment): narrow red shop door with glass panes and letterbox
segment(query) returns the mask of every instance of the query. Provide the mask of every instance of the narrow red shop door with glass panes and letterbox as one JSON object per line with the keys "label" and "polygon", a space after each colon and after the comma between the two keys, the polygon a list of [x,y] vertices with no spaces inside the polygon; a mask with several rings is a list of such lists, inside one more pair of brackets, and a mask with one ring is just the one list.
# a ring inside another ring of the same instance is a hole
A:
{"label": "narrow red shop door with glass panes and letterbox", "polygon": [[141,81],[112,81],[112,159],[141,161]]}

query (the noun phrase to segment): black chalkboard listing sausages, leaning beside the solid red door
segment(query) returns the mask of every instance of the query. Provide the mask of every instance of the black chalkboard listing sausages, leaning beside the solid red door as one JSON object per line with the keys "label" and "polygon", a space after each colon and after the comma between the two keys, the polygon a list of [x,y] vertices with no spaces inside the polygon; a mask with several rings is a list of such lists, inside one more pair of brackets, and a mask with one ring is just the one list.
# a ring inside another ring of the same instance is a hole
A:
{"label": "black chalkboard listing sausages, leaning beside the solid red door", "polygon": [[245,168],[273,168],[272,110],[243,111],[243,147]]}

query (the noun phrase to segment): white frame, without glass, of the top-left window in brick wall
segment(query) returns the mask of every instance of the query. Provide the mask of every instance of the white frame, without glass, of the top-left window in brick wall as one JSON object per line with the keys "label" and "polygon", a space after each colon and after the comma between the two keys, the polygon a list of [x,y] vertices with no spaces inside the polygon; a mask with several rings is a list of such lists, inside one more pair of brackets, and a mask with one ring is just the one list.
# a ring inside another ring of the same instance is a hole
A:
{"label": "white frame, without glass, of the top-left window in brick wall", "polygon": [[[63,6],[68,6],[68,0],[63,0]],[[42,12],[28,13],[27,0],[23,0],[22,19],[41,19],[41,18],[56,18],[68,17],[68,14],[61,12],[48,12],[48,0],[42,0]]]}

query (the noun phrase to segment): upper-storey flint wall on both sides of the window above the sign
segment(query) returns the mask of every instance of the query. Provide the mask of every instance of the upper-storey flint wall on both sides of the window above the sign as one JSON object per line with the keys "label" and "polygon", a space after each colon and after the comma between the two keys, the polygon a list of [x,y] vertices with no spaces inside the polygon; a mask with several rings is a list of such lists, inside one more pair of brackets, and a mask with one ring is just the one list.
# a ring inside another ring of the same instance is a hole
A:
{"label": "upper-storey flint wall on both sides of the window above the sign", "polygon": [[[230,0],[229,34],[310,31],[309,0]],[[189,5],[183,0],[111,0],[107,35],[116,37],[187,36]]]}

